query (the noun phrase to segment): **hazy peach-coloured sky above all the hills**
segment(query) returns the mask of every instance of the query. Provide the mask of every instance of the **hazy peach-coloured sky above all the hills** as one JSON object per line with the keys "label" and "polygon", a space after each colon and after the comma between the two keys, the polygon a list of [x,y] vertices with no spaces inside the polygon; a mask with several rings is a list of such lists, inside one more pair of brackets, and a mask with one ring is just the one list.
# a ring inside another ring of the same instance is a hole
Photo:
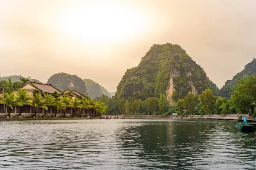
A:
{"label": "hazy peach-coloured sky above all the hills", "polygon": [[115,92],[153,44],[179,44],[221,88],[256,57],[255,0],[0,0],[0,74]]}

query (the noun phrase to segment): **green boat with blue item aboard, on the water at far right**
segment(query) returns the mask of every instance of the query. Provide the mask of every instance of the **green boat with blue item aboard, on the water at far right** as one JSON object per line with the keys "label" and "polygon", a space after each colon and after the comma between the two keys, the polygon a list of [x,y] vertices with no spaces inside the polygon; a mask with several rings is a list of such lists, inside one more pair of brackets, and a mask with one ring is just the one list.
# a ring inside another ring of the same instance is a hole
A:
{"label": "green boat with blue item aboard, on the water at far right", "polygon": [[237,130],[240,130],[241,132],[254,132],[256,128],[256,122],[253,122],[251,120],[248,120],[246,118],[244,119],[238,119],[238,122],[235,127]]}

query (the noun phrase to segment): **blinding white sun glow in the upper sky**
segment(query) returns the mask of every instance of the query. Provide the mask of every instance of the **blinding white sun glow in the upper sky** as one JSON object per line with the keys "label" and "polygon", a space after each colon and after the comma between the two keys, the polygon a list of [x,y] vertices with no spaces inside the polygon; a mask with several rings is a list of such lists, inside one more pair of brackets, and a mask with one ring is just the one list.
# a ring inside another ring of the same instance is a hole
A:
{"label": "blinding white sun glow in the upper sky", "polygon": [[58,29],[81,42],[106,43],[140,34],[146,18],[138,11],[115,4],[89,4],[64,8],[58,15]]}

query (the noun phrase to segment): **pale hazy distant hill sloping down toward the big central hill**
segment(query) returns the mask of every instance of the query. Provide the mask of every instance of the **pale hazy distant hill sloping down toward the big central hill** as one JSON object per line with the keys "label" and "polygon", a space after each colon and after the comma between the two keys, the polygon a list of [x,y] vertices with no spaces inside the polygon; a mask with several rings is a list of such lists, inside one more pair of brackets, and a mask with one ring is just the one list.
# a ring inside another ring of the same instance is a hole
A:
{"label": "pale hazy distant hill sloping down toward the big central hill", "polygon": [[99,85],[98,83],[94,82],[91,79],[83,79],[85,86],[86,86],[86,91],[88,96],[91,99],[94,99],[96,97],[101,97],[102,94],[111,97],[111,94],[101,85]]}

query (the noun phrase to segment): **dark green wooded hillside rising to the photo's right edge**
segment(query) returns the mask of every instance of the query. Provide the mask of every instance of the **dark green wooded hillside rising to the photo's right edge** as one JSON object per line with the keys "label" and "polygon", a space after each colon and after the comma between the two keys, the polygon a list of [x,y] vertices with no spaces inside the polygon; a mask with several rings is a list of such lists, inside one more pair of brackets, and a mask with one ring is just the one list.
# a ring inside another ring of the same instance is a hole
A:
{"label": "dark green wooded hillside rising to the photo's right edge", "polygon": [[220,90],[221,96],[226,97],[227,99],[230,99],[231,93],[234,91],[234,89],[236,88],[236,85],[238,84],[238,79],[246,79],[247,77],[255,74],[256,74],[256,59],[253,59],[252,62],[244,66],[244,70],[236,74],[233,77],[233,79],[227,80],[227,82],[225,82],[225,85]]}

